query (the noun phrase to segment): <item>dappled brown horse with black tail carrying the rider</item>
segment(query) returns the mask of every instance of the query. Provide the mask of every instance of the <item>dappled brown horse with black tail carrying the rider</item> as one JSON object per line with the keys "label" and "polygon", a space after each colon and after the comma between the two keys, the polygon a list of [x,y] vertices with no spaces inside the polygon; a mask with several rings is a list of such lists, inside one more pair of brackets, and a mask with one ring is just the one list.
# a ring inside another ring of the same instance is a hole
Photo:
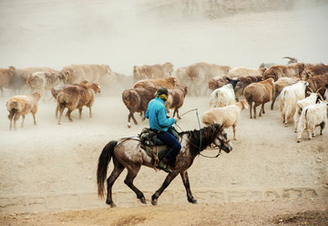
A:
{"label": "dappled brown horse with black tail carrying the rider", "polygon": [[[179,141],[182,148],[174,166],[170,167],[172,172],[168,174],[159,190],[152,195],[151,203],[153,205],[157,205],[160,194],[178,174],[182,178],[188,200],[191,203],[197,203],[197,200],[191,194],[187,171],[193,160],[200,154],[201,150],[206,149],[211,144],[218,146],[227,153],[232,149],[231,142],[227,138],[227,133],[219,124],[212,124],[200,130],[195,129],[193,131],[180,132]],[[108,194],[106,203],[110,207],[116,206],[112,200],[112,187],[120,173],[127,168],[128,175],[124,182],[137,194],[137,198],[146,204],[144,194],[133,184],[133,180],[137,177],[142,165],[152,168],[153,160],[147,155],[146,150],[140,147],[140,141],[136,139],[112,140],[102,150],[97,165],[97,193],[100,198],[104,197],[104,183],[107,178],[108,164],[111,158],[113,158],[114,170],[107,180]]]}

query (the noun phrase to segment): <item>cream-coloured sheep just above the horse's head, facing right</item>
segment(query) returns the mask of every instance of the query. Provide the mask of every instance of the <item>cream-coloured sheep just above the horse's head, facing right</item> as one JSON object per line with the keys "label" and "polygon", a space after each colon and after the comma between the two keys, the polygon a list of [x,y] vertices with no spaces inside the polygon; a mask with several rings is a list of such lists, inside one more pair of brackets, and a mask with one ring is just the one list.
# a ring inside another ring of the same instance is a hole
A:
{"label": "cream-coloured sheep just above the horse's head, facing right", "polygon": [[205,126],[210,126],[213,123],[219,123],[223,128],[233,129],[233,139],[236,139],[236,126],[241,118],[241,111],[245,108],[249,108],[246,100],[241,100],[230,106],[223,108],[211,108],[208,111],[205,111],[201,116],[202,123]]}

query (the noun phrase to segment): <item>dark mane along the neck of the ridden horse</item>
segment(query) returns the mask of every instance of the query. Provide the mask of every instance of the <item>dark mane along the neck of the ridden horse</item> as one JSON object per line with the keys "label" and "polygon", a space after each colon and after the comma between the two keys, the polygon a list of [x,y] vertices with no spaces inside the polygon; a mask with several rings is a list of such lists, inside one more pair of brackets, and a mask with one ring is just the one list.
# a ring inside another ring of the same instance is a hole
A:
{"label": "dark mane along the neck of the ridden horse", "polygon": [[[220,124],[211,124],[209,127],[194,129],[189,131],[179,132],[179,136],[188,134],[189,139],[189,149],[192,155],[196,156],[200,154],[200,151],[206,149],[214,141],[219,133],[223,130]],[[201,137],[200,137],[201,131]],[[200,147],[201,140],[201,147]]]}

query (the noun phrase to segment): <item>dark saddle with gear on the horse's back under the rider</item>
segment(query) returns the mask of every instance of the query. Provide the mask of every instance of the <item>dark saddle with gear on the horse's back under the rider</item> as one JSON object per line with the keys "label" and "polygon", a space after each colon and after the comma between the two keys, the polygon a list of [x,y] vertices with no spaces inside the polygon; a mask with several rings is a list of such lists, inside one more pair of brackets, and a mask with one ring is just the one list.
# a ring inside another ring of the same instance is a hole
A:
{"label": "dark saddle with gear on the horse's back under the rider", "polygon": [[[174,127],[170,127],[168,132],[178,139],[178,131]],[[146,150],[149,157],[152,158],[154,166],[159,164],[159,161],[169,152],[169,146],[157,138],[157,134],[151,131],[150,128],[142,128],[139,134],[141,148]]]}

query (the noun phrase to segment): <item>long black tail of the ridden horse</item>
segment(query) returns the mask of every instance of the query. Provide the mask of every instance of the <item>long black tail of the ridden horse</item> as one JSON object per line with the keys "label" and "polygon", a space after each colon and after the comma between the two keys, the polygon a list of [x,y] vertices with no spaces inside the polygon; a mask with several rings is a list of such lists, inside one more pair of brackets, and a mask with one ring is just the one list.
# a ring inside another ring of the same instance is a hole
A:
{"label": "long black tail of the ridden horse", "polygon": [[108,164],[113,155],[113,150],[117,146],[118,141],[110,141],[101,151],[97,165],[97,192],[100,198],[104,198],[104,183],[107,178]]}

